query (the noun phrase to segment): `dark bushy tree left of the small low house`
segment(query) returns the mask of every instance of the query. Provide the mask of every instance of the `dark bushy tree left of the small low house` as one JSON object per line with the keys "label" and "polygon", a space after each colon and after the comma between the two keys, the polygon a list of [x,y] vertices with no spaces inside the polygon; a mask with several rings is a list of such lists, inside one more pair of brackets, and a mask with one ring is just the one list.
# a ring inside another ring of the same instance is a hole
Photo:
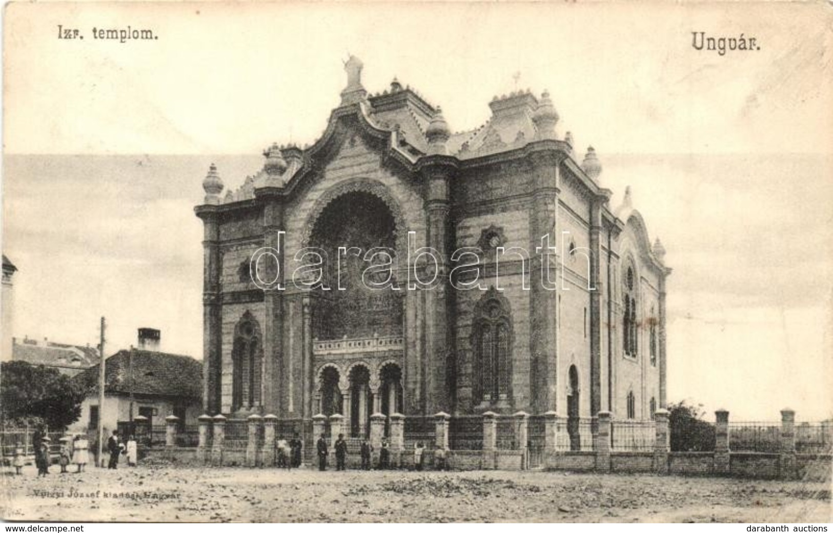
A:
{"label": "dark bushy tree left of the small low house", "polygon": [[84,390],[69,376],[24,361],[2,363],[0,394],[5,425],[23,425],[39,419],[50,430],[65,430],[78,420],[84,399]]}

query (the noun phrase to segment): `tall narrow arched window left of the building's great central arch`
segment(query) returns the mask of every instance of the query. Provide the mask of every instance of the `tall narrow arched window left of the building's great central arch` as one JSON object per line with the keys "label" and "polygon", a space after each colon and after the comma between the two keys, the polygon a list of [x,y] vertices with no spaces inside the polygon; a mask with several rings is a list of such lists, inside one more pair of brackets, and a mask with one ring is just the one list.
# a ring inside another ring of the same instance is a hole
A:
{"label": "tall narrow arched window left of the building's great central arch", "polygon": [[234,328],[232,348],[232,410],[261,404],[263,349],[260,324],[247,311]]}

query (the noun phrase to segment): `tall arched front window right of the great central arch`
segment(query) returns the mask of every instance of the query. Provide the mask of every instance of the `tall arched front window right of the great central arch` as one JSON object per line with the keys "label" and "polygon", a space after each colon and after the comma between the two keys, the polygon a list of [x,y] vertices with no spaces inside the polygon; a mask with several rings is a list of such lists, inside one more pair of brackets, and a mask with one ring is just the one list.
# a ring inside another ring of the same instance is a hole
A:
{"label": "tall arched front window right of the great central arch", "polygon": [[511,398],[511,319],[506,299],[490,289],[477,304],[472,348],[474,397],[484,404]]}

